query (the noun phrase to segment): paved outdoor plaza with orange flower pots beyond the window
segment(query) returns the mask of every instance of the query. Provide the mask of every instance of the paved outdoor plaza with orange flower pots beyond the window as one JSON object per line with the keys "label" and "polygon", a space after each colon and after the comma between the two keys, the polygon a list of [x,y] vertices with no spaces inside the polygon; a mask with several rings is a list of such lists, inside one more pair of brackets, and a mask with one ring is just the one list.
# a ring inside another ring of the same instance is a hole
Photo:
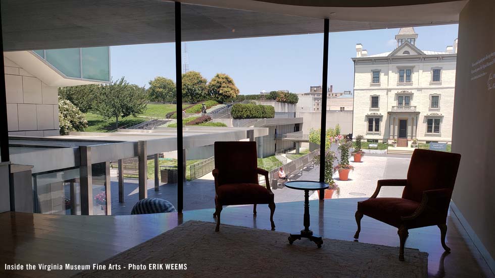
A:
{"label": "paved outdoor plaza with orange flower pots beyond the window", "polygon": [[[410,156],[391,156],[384,154],[368,154],[363,157],[363,162],[350,162],[355,170],[349,174],[348,181],[340,181],[338,173],[333,178],[340,188],[340,194],[334,194],[332,198],[363,198],[369,197],[376,189],[376,181],[380,179],[405,179],[409,167]],[[318,181],[320,169],[303,171],[303,174],[295,180]],[[132,206],[138,200],[138,182],[135,179],[125,179],[124,202],[119,203],[118,182],[116,173],[112,175],[112,214],[130,214]],[[155,181],[148,180],[148,197],[162,198],[177,206],[177,184],[162,184],[159,191],[155,191]],[[379,197],[401,197],[402,187],[383,187]],[[282,188],[273,190],[275,202],[303,201],[304,193],[299,190]],[[318,199],[317,192],[310,193],[310,199]],[[211,173],[188,181],[184,185],[184,210],[214,208],[215,183]]]}

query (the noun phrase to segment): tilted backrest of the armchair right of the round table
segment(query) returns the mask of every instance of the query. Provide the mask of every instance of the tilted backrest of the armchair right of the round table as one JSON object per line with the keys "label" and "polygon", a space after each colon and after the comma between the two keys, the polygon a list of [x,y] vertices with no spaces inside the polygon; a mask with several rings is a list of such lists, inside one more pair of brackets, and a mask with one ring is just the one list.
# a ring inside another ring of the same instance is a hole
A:
{"label": "tilted backrest of the armchair right of the round table", "polygon": [[450,189],[450,195],[447,196],[450,200],[460,160],[459,153],[415,149],[402,198],[421,202],[423,191]]}

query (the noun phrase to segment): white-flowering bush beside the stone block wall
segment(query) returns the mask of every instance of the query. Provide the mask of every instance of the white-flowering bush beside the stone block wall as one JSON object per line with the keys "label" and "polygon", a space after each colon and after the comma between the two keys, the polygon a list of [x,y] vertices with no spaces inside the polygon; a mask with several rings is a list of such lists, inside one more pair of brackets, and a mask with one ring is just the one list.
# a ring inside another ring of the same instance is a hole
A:
{"label": "white-flowering bush beside the stone block wall", "polygon": [[85,115],[69,100],[59,98],[60,134],[70,131],[84,131],[88,127]]}

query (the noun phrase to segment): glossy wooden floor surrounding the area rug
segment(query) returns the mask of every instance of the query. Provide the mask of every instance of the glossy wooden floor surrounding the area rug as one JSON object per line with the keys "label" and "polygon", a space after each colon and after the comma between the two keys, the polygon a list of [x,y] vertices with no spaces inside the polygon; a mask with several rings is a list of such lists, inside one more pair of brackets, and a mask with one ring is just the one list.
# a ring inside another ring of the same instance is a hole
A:
{"label": "glossy wooden floor surrounding the area rug", "polygon": [[[323,237],[354,240],[354,199],[310,201],[311,229]],[[222,223],[270,229],[267,205],[227,207]],[[151,239],[184,221],[214,221],[212,209],[177,213],[116,216],[47,215],[0,213],[0,277],[66,277],[77,271],[6,271],[5,264],[90,264]],[[275,210],[277,231],[298,232],[303,228],[303,202],[279,203]],[[428,252],[429,277],[494,277],[487,264],[451,212],[448,217],[444,254],[437,227],[409,231],[406,247]],[[397,230],[365,216],[360,242],[399,246]],[[294,243],[296,244],[296,243]],[[331,248],[323,244],[323,248]],[[407,252],[407,249],[406,249]],[[273,260],[276,263],[276,259]]]}

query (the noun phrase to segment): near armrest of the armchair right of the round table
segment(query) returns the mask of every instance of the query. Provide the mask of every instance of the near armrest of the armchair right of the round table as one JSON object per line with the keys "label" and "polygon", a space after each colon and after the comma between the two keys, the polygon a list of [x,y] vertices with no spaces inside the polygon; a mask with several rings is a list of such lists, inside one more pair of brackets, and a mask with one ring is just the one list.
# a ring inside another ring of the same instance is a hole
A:
{"label": "near armrest of the armchair right of the round table", "polygon": [[452,189],[442,188],[423,191],[423,197],[419,207],[409,216],[402,216],[402,220],[412,220],[418,217],[426,207],[435,209],[438,212],[442,212],[449,207],[450,198],[452,195]]}

